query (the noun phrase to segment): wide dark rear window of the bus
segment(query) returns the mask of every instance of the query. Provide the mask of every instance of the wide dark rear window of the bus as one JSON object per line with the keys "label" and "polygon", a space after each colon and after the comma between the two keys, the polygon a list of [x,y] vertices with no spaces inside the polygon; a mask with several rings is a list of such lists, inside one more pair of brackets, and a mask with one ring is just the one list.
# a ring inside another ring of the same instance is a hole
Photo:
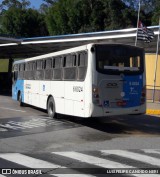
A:
{"label": "wide dark rear window of the bus", "polygon": [[96,45],[96,68],[100,73],[143,72],[143,49],[125,45]]}

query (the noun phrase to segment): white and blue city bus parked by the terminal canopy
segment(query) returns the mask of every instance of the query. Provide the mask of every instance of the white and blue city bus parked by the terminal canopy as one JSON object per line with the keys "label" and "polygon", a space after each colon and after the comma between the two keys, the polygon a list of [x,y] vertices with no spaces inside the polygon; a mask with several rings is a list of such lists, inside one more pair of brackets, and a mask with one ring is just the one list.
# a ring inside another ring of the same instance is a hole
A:
{"label": "white and blue city bus parked by the terminal canopy", "polygon": [[123,44],[87,44],[13,64],[12,97],[79,117],[146,111],[144,50]]}

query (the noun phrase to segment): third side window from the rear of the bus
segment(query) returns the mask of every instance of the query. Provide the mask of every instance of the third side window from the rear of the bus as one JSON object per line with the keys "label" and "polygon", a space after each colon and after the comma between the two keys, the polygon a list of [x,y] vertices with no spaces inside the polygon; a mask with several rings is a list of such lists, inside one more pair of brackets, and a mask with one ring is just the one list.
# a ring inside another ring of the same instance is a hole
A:
{"label": "third side window from the rear of the bus", "polygon": [[53,80],[62,79],[62,57],[58,56],[53,59]]}

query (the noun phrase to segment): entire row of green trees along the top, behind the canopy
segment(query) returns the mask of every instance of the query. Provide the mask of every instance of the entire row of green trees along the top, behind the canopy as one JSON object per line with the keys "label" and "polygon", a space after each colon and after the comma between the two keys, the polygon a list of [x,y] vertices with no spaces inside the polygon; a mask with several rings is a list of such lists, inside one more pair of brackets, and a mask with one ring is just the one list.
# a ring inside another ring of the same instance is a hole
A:
{"label": "entire row of green trees along the top, behind the canopy", "polygon": [[[32,37],[75,34],[136,27],[139,1],[135,0],[43,0],[39,10],[29,0],[3,0],[0,33]],[[141,0],[140,20],[158,25],[159,0]]]}

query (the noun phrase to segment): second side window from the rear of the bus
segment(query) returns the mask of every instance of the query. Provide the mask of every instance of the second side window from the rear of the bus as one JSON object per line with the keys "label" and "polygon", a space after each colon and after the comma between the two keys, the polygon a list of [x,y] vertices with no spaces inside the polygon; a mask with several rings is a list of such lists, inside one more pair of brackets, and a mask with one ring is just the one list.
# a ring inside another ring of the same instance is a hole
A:
{"label": "second side window from the rear of the bus", "polygon": [[[76,55],[74,55],[76,57]],[[64,57],[63,79],[64,80],[76,80],[76,58],[73,55],[67,55]]]}

